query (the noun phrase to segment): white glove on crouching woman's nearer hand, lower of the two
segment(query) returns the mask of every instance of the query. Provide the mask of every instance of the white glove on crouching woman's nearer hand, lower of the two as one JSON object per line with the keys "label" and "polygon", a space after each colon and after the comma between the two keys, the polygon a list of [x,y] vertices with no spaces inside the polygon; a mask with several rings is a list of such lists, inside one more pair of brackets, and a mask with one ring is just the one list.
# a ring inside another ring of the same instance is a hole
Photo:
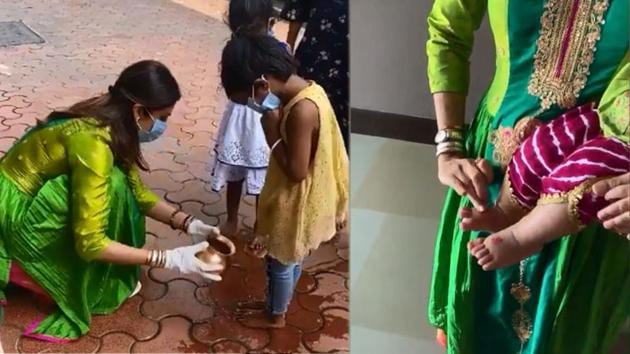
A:
{"label": "white glove on crouching woman's nearer hand, lower of the two", "polygon": [[[221,281],[217,273],[223,271],[221,264],[207,264],[195,257],[195,254],[208,248],[208,242],[197,243],[192,246],[179,247],[166,251],[166,263],[164,268],[177,270],[184,274],[197,273],[207,280]],[[214,272],[214,273],[210,273]]]}

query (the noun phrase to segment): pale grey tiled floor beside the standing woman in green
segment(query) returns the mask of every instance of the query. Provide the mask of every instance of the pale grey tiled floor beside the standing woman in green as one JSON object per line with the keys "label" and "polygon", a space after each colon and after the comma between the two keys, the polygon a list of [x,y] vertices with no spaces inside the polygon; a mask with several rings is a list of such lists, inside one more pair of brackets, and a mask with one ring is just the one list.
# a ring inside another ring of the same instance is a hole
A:
{"label": "pale grey tiled floor beside the standing woman in green", "polygon": [[[445,192],[436,167],[432,146],[352,135],[353,353],[444,353],[426,313]],[[630,354],[628,333],[613,354]]]}

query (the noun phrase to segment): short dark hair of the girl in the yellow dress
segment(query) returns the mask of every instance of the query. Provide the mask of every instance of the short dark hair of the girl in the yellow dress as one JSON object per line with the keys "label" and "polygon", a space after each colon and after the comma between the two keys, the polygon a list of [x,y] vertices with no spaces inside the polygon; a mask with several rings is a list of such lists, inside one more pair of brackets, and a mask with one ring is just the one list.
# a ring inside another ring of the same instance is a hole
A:
{"label": "short dark hair of the girl in the yellow dress", "polygon": [[223,48],[221,85],[228,97],[251,91],[262,75],[287,81],[296,71],[293,57],[268,35],[235,35]]}

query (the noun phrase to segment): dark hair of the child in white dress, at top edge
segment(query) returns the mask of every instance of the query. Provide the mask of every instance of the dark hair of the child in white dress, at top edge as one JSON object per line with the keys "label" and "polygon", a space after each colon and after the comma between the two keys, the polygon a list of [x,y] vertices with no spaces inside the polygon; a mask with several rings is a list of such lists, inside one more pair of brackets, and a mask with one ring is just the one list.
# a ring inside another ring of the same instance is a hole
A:
{"label": "dark hair of the child in white dress, at top edge", "polygon": [[227,24],[235,34],[263,34],[273,15],[272,0],[230,0]]}

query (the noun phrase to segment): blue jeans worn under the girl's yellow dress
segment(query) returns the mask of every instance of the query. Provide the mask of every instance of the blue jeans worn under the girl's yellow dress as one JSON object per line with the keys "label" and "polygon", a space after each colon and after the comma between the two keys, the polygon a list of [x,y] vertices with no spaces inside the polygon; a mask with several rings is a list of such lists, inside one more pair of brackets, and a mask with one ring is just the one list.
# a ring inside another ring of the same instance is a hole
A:
{"label": "blue jeans worn under the girl's yellow dress", "polygon": [[302,274],[302,261],[282,264],[267,257],[267,311],[272,315],[284,315],[293,298],[293,292]]}

